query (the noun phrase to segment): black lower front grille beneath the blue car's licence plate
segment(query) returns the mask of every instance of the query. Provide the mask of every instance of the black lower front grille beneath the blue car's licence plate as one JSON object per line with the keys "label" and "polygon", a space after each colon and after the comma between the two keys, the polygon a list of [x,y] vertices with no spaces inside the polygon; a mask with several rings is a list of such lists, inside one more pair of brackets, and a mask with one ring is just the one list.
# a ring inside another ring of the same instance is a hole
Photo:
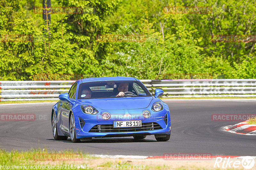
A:
{"label": "black lower front grille beneath the blue car's licence plate", "polygon": [[159,124],[155,122],[142,123],[141,127],[126,127],[126,128],[113,128],[113,124],[99,124],[92,127],[89,132],[135,132],[135,131],[152,131],[163,129]]}

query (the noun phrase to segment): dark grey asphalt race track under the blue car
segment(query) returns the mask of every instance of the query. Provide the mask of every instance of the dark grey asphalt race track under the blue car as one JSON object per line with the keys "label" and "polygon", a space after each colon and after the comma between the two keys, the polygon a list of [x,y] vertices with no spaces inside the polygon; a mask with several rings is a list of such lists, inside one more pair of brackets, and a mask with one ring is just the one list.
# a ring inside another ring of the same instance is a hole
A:
{"label": "dark grey asphalt race track under the blue car", "polygon": [[221,131],[221,127],[242,121],[212,121],[212,114],[255,114],[255,100],[183,100],[165,101],[171,110],[171,139],[156,142],[145,139],[92,138],[90,142],[55,141],[52,137],[53,103],[0,105],[0,115],[35,114],[33,121],[0,121],[0,148],[24,150],[77,149],[91,154],[163,156],[164,153],[211,153],[212,155],[256,155],[256,136]]}

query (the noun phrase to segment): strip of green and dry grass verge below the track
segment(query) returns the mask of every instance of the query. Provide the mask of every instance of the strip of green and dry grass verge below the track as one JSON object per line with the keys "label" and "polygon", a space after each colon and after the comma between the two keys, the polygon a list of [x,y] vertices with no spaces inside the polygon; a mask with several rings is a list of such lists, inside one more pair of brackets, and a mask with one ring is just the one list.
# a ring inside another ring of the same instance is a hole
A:
{"label": "strip of green and dry grass verge below the track", "polygon": [[[49,155],[57,155],[57,154],[63,154],[68,155],[70,153],[76,153],[76,154],[82,154],[83,160],[38,160],[35,159],[36,155],[41,154],[49,154]],[[147,160],[147,159],[144,159]],[[1,169],[7,169],[7,167],[3,166],[9,166],[9,169],[17,169],[17,170],[23,170],[23,169],[37,169],[37,170],[45,170],[49,169],[48,166],[54,166],[50,169],[59,170],[59,169],[83,169],[79,167],[80,165],[88,165],[85,169],[88,168],[88,170],[106,170],[106,169],[115,169],[113,166],[117,165],[120,167],[124,167],[124,165],[131,166],[131,170],[137,170],[140,168],[136,168],[136,165],[143,167],[144,170],[167,170],[167,169],[175,169],[175,170],[207,170],[207,168],[200,167],[196,165],[196,162],[194,165],[190,166],[184,166],[182,163],[180,163],[180,167],[172,168],[172,164],[170,162],[169,165],[161,164],[161,165],[152,165],[152,162],[150,160],[148,161],[135,161],[134,159],[106,159],[106,158],[95,158],[90,156],[88,153],[84,153],[81,150],[73,151],[73,150],[64,150],[64,151],[50,151],[46,148],[44,149],[30,149],[28,151],[5,151],[3,149],[0,149],[0,170]],[[15,165],[13,168],[12,166]],[[78,166],[79,165],[79,166]],[[111,168],[112,165],[112,168]],[[145,166],[143,166],[145,165]],[[2,166],[2,167],[1,167]],[[19,166],[19,167],[17,167]],[[23,166],[23,167],[22,167]],[[25,167],[26,166],[26,167]],[[29,166],[29,167],[28,167]],[[37,168],[33,168],[33,166],[40,166]],[[61,168],[60,166],[65,168]],[[135,168],[134,168],[135,167]],[[116,168],[117,169],[117,168]],[[122,168],[124,169],[124,168]],[[130,168],[126,168],[130,169]],[[212,168],[210,168],[212,169]]]}

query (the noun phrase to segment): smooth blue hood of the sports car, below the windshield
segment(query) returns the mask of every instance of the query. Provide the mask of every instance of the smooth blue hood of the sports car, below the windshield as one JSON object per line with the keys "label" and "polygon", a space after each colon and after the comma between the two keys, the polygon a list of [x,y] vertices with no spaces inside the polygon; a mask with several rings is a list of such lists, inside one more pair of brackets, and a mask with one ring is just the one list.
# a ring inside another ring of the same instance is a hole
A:
{"label": "smooth blue hood of the sports car, below the windshield", "polygon": [[80,100],[81,104],[92,105],[101,110],[124,110],[147,108],[153,97],[122,97]]}

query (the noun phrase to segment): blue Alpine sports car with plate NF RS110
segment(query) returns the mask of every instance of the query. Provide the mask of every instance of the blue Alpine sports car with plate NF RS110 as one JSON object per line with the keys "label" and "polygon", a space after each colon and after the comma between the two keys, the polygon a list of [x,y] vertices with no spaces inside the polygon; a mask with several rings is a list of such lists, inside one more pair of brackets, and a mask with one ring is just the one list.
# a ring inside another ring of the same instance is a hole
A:
{"label": "blue Alpine sports car with plate NF RS110", "polygon": [[169,107],[132,77],[100,77],[77,80],[68,93],[52,107],[52,134],[55,140],[72,142],[92,138],[155,135],[157,141],[171,136]]}

